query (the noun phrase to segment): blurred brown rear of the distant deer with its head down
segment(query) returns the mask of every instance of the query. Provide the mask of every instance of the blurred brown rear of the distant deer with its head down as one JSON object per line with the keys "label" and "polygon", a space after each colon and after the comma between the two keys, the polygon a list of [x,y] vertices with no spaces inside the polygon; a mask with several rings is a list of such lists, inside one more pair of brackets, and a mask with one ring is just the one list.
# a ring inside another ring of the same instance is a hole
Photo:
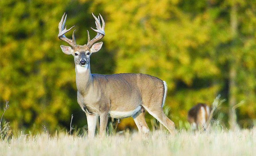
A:
{"label": "blurred brown rear of the distant deer with its head down", "polygon": [[192,124],[192,129],[202,128],[210,116],[210,108],[204,103],[193,106],[188,113],[188,121]]}

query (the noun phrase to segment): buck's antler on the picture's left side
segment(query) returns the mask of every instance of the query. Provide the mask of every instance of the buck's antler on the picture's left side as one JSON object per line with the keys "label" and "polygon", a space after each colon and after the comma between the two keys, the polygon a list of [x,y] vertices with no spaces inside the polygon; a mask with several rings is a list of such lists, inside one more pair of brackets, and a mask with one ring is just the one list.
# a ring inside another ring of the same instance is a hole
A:
{"label": "buck's antler on the picture's left side", "polygon": [[[62,16],[62,19],[61,19],[61,22],[59,23],[59,34],[58,34],[58,38],[67,42],[69,45],[72,46],[72,48],[75,48],[77,45],[75,43],[75,35],[74,35],[74,32],[75,30],[73,31],[73,34],[72,34],[72,39],[68,39],[65,37],[65,33],[70,31],[73,27],[69,28],[68,30],[66,29],[67,26],[65,26],[65,23],[66,23],[66,18],[67,18],[67,15],[65,16],[66,13],[64,13],[64,15]],[[64,16],[65,16],[65,19],[64,19]],[[65,26],[65,29],[64,29],[64,26]]]}

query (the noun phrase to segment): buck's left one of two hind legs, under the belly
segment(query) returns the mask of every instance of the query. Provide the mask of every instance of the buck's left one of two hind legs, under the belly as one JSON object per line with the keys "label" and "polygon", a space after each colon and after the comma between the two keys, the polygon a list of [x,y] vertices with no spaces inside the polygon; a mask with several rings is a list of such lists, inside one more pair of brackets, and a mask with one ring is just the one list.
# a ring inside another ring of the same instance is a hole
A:
{"label": "buck's left one of two hind legs, under the belly", "polygon": [[143,134],[147,134],[149,132],[149,127],[145,121],[145,110],[142,107],[141,110],[132,116],[135,124],[137,125],[139,132]]}

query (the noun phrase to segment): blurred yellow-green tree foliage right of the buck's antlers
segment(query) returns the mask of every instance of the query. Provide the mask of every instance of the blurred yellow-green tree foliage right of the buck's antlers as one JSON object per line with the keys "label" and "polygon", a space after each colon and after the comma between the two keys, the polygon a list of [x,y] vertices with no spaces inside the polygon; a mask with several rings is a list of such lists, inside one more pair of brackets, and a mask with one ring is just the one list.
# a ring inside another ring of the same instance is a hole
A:
{"label": "blurred yellow-green tree foliage right of the buck's antlers", "polygon": [[175,123],[186,120],[187,110],[197,102],[211,104],[221,93],[228,99],[223,113],[228,115],[235,104],[246,100],[240,119],[252,124],[246,114],[255,118],[255,73],[247,66],[255,66],[255,54],[249,52],[255,51],[255,2],[94,3],[92,9],[99,7],[108,16],[106,32],[111,35],[105,41],[116,53],[115,73],[147,73],[165,80],[166,103]]}

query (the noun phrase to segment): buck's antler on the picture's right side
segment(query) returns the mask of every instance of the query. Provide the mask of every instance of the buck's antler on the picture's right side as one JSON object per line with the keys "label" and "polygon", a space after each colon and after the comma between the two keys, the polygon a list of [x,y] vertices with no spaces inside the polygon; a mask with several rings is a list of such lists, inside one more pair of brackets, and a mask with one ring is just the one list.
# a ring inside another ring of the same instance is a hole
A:
{"label": "buck's antler on the picture's right side", "polygon": [[100,18],[101,18],[101,21],[102,21],[102,27],[100,25],[100,19],[99,19],[99,16],[98,18],[96,18],[93,13],[92,13],[92,16],[94,17],[95,19],[95,24],[96,24],[96,29],[92,29],[94,30],[95,32],[97,32],[97,35],[91,40],[90,39],[90,35],[89,35],[89,31],[87,30],[87,34],[88,34],[88,41],[87,41],[87,46],[90,48],[92,46],[93,43],[95,43],[96,41],[102,39],[104,36],[105,36],[105,32],[104,32],[104,29],[105,29],[105,22],[102,18],[102,16],[99,14]]}

